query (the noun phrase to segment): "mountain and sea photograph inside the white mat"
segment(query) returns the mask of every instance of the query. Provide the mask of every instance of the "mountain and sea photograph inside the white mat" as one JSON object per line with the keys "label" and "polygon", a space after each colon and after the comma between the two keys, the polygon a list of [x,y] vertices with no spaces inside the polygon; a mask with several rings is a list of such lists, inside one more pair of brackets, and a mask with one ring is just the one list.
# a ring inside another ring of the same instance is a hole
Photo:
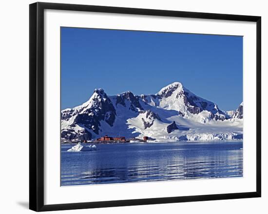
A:
{"label": "mountain and sea photograph inside the white mat", "polygon": [[243,177],[243,36],[61,26],[59,114],[61,186]]}

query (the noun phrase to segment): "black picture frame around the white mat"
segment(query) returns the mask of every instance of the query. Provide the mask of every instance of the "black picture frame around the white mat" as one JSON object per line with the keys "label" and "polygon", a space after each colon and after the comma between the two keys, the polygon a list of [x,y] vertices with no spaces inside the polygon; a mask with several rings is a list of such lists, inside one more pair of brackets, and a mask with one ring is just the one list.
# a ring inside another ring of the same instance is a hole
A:
{"label": "black picture frame around the white mat", "polygon": [[[221,19],[256,22],[256,192],[217,195],[191,195],[116,201],[98,201],[44,205],[44,10],[70,10],[102,13],[135,14],[162,17]],[[148,205],[188,201],[208,201],[234,198],[261,197],[261,17],[184,11],[152,10],[61,3],[37,2],[30,4],[30,197],[29,208],[34,211],[55,211],[85,208]]]}

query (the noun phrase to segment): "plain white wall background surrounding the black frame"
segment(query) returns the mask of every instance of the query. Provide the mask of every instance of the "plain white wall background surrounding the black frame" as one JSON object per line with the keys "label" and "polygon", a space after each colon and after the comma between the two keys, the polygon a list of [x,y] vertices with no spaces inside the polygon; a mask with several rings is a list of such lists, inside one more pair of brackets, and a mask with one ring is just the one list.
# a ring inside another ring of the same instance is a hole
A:
{"label": "plain white wall background surrounding the black frame", "polygon": [[[46,0],[43,0],[46,1]],[[29,139],[29,6],[31,0],[1,2],[0,9],[0,212],[31,213],[28,210],[28,139]],[[268,129],[266,97],[268,94],[268,5],[265,0],[49,0],[106,6],[137,7],[193,12],[262,16],[262,198],[188,202],[147,206],[59,211],[57,213],[134,214],[134,213],[266,213],[268,210],[268,152],[265,133]],[[56,213],[56,212],[52,212]]]}

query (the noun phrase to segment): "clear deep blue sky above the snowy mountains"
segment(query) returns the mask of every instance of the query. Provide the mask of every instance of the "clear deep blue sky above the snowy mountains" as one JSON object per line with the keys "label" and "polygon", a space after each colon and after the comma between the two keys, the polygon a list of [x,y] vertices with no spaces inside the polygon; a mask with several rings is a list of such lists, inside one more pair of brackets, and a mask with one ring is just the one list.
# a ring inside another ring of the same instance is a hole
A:
{"label": "clear deep blue sky above the snowy mountains", "polygon": [[243,97],[243,37],[61,27],[61,109],[108,95],[156,94],[181,82],[234,110]]}

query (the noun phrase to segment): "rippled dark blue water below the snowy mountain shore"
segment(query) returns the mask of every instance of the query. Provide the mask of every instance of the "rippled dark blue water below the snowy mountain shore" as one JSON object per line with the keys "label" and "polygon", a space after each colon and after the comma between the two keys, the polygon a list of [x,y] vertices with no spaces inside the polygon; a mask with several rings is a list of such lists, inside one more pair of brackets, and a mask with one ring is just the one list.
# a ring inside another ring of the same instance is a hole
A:
{"label": "rippled dark blue water below the snowy mountain shore", "polygon": [[97,151],[66,152],[61,185],[243,176],[243,142],[100,144]]}

